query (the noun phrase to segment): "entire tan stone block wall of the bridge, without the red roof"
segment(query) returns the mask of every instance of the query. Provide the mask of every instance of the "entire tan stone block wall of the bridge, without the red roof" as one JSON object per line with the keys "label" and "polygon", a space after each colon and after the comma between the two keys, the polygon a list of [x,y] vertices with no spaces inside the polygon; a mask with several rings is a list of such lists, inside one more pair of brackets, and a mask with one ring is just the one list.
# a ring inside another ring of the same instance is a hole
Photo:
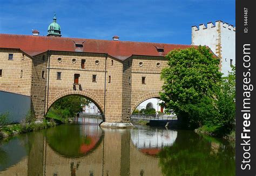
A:
{"label": "entire tan stone block wall of the bridge, without the red roof", "polygon": [[[14,60],[8,60],[9,53],[14,53]],[[92,100],[104,114],[103,120],[110,123],[129,122],[139,103],[159,97],[160,71],[167,63],[164,57],[131,56],[122,62],[104,53],[62,51],[30,58],[9,49],[2,49],[0,58],[0,90],[31,96],[31,110],[37,119],[43,119],[59,98],[78,94]],[[79,74],[78,84],[74,84],[75,74]]]}

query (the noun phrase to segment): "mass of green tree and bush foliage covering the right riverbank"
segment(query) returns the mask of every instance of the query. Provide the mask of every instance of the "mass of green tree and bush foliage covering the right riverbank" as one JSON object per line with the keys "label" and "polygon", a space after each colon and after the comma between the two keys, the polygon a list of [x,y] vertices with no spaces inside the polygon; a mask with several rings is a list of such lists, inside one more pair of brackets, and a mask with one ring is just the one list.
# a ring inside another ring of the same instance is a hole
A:
{"label": "mass of green tree and bush foliage covering the right riverbank", "polygon": [[167,111],[173,110],[181,124],[207,126],[216,133],[230,133],[235,119],[235,70],[221,77],[219,59],[205,46],[171,51],[160,97]]}

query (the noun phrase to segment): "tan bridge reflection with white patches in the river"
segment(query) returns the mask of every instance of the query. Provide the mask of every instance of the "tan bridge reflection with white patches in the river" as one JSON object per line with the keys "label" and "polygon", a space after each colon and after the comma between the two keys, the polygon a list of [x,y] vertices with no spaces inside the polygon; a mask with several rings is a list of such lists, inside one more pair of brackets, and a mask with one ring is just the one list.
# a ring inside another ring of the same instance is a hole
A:
{"label": "tan bridge reflection with white patches in the river", "polygon": [[[100,128],[82,128],[80,132],[89,136],[95,136],[93,131],[98,132]],[[82,131],[81,131],[82,130]],[[97,132],[97,133],[98,133]],[[117,130],[109,129],[103,131],[103,139],[93,148],[92,152],[81,155],[78,158],[65,157],[58,154],[59,151],[52,149],[42,133],[33,133],[28,156],[11,166],[4,175],[161,175],[158,158],[151,157],[138,150],[140,143],[134,143],[137,137],[142,141],[150,138],[151,146],[162,143],[171,145],[177,137],[177,132],[152,131],[146,134],[143,130]],[[139,134],[138,134],[139,133]],[[145,133],[145,134],[144,134]],[[167,136],[166,136],[167,135]],[[170,140],[168,139],[170,137]],[[160,143],[156,139],[159,139]],[[133,142],[132,142],[133,141]],[[128,144],[128,145],[127,145]],[[129,145],[130,144],[130,145]],[[136,146],[134,146],[137,145]],[[72,145],[72,144],[70,144]],[[144,148],[150,147],[148,143]],[[53,146],[53,148],[56,148]],[[39,152],[38,152],[39,151]]]}

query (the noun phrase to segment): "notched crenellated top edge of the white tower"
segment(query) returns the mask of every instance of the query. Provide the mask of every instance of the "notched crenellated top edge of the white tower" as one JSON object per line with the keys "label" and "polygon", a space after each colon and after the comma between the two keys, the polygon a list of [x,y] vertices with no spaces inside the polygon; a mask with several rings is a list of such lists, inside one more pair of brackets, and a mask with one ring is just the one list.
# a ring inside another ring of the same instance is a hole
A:
{"label": "notched crenellated top edge of the white tower", "polygon": [[228,23],[224,23],[223,21],[215,21],[215,25],[212,22],[207,23],[207,25],[205,26],[205,24],[199,24],[199,26],[192,26],[192,31],[199,31],[199,30],[207,30],[207,29],[211,29],[211,28],[215,28],[215,26],[222,26],[223,28],[226,28],[228,30],[233,30],[235,31],[235,27],[230,24],[228,25]]}

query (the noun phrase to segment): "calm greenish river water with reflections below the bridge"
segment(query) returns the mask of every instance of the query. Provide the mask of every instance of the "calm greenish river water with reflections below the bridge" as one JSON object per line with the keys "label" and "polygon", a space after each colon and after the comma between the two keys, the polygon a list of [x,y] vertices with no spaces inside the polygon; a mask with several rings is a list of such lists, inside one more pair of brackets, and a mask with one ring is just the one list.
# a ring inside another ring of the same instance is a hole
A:
{"label": "calm greenish river water with reflections below the bridge", "polygon": [[68,124],[0,141],[0,175],[235,175],[235,150],[193,131]]}

